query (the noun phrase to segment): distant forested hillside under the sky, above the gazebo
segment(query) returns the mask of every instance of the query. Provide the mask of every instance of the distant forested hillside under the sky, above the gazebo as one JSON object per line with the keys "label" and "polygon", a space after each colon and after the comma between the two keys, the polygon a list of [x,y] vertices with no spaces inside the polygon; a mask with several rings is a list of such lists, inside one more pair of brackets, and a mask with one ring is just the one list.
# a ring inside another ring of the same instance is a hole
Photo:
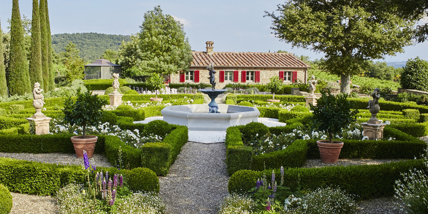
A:
{"label": "distant forested hillside under the sky, above the gazebo", "polygon": [[56,53],[65,51],[71,41],[80,50],[79,55],[86,61],[100,59],[105,50],[117,51],[122,40],[130,41],[129,36],[103,33],[61,33],[52,35],[52,47]]}

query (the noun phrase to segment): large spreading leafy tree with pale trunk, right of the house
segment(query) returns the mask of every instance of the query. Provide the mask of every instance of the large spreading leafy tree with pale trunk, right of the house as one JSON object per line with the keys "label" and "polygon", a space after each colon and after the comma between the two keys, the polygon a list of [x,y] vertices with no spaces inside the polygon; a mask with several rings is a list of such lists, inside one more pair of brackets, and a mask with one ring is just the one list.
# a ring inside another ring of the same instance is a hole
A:
{"label": "large spreading leafy tree with pale trunk, right of the house", "polygon": [[293,47],[323,52],[321,67],[340,76],[341,92],[350,93],[351,75],[368,59],[403,52],[412,44],[414,19],[401,18],[384,1],[287,0],[273,19],[276,37]]}

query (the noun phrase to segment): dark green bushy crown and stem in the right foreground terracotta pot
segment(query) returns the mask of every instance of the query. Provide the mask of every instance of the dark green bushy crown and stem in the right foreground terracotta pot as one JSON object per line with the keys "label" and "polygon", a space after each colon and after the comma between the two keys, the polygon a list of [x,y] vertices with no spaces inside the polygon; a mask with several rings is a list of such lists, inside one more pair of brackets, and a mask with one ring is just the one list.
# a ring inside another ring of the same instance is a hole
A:
{"label": "dark green bushy crown and stem in the right foreground terracotta pot", "polygon": [[317,105],[310,105],[313,112],[313,120],[320,131],[328,133],[329,143],[334,134],[339,134],[342,128],[357,120],[358,110],[354,109],[355,103],[348,100],[348,94],[334,96],[330,89],[321,90],[321,97],[317,99]]}

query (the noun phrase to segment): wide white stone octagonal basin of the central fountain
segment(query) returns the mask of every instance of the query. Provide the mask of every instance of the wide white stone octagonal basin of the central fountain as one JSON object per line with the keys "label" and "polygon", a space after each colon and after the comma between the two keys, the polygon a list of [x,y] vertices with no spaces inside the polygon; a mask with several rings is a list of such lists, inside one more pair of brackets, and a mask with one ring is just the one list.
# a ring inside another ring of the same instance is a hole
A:
{"label": "wide white stone octagonal basin of the central fountain", "polygon": [[230,126],[257,122],[260,112],[256,107],[218,105],[221,113],[208,113],[207,104],[167,106],[160,111],[163,120],[185,125],[190,131],[226,131]]}

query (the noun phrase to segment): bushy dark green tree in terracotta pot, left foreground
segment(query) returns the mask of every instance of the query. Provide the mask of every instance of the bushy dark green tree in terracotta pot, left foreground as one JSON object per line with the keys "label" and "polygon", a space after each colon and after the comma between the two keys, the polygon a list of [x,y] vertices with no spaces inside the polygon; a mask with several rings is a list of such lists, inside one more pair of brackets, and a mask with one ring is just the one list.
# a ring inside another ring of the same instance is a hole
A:
{"label": "bushy dark green tree in terracotta pot, left foreground", "polygon": [[83,128],[83,135],[71,137],[74,151],[77,158],[83,158],[83,151],[86,151],[88,158],[94,155],[97,136],[86,135],[86,125],[98,125],[103,114],[102,107],[107,101],[101,100],[97,95],[91,95],[91,92],[81,92],[77,94],[77,99],[68,97],[64,101],[64,121],[70,125],[79,125]]}

